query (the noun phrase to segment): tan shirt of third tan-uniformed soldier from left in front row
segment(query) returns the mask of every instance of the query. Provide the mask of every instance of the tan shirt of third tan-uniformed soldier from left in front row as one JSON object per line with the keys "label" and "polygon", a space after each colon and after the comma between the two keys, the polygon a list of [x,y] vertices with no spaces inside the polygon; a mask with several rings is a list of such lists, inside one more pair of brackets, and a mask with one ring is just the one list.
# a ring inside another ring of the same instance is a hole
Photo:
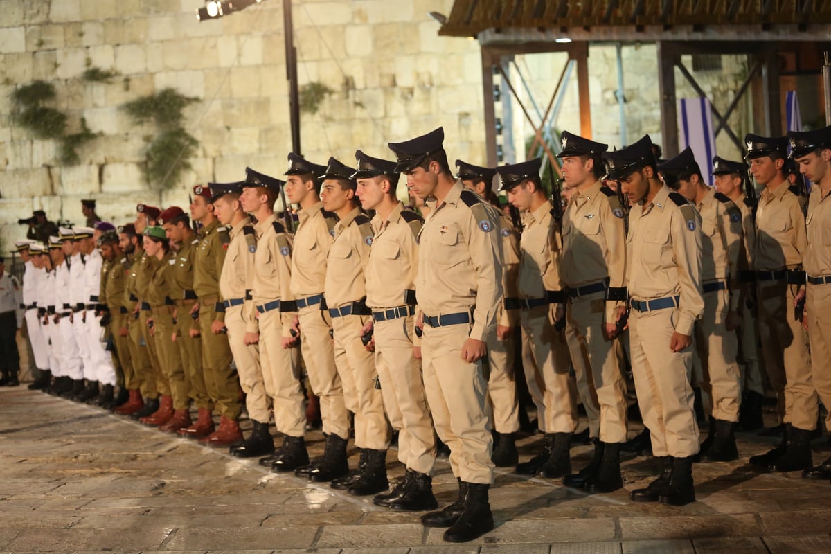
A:
{"label": "tan shirt of third tan-uniformed soldier from left in front row", "polygon": [[292,292],[294,297],[302,298],[323,292],[326,260],[334,234],[330,232],[322,202],[303,208],[297,217],[300,221],[294,235],[294,250],[302,255],[292,257]]}

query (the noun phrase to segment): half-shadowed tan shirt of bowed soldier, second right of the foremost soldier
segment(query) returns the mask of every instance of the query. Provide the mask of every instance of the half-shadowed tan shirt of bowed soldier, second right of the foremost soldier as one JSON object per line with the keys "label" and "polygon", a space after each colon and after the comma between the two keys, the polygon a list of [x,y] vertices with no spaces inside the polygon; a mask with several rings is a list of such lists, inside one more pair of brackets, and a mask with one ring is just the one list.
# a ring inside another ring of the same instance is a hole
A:
{"label": "half-shadowed tan shirt of bowed soldier, second right of the foremost soldier", "polygon": [[546,291],[559,291],[560,258],[563,250],[557,223],[551,215],[548,200],[526,218],[520,240],[522,260],[519,266],[517,292],[525,300],[545,297]]}

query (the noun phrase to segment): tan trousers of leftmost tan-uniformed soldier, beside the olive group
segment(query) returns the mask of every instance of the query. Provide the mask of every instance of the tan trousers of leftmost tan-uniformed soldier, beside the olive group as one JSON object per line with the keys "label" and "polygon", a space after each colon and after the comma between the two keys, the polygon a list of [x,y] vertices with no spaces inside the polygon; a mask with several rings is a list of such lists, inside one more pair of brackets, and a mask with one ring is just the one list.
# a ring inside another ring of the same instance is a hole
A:
{"label": "tan trousers of leftmost tan-uniformed soldier, beside the olive group", "polygon": [[271,420],[271,400],[265,393],[263,370],[260,369],[259,346],[246,345],[247,322],[243,316],[243,306],[230,306],[225,309],[225,326],[228,327],[228,344],[237,366],[239,385],[245,393],[245,407],[248,417],[259,423],[267,424]]}

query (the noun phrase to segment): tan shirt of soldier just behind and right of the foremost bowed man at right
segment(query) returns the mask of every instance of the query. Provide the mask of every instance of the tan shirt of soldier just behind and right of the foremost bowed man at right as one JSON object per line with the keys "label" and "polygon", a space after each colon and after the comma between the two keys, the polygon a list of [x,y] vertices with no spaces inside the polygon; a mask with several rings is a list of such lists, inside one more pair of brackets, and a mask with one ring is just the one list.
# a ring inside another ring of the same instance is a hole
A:
{"label": "tan shirt of soldier just behind and right of the foremost bowed man at right", "polygon": [[701,214],[701,282],[729,280],[730,311],[739,307],[739,254],[742,249],[742,215],[724,194],[710,189],[696,205]]}

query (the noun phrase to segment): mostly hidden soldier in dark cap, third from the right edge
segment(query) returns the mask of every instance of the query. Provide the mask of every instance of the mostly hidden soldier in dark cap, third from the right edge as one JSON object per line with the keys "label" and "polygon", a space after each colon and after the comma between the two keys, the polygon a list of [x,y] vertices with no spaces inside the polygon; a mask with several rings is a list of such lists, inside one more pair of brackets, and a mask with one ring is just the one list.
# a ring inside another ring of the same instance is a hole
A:
{"label": "mostly hidden soldier in dark cap, third from the right edge", "polygon": [[747,166],[744,162],[730,161],[718,156],[713,158],[712,175],[715,189],[733,201],[741,212],[741,245],[738,258],[739,311],[727,315],[727,328],[735,329],[739,341],[739,369],[742,385],[738,429],[755,431],[765,426],[762,418],[762,401],[765,388],[762,383],[762,366],[759,355],[759,328],[756,325],[755,274],[753,252],[755,249],[755,199],[749,199],[742,188]]}

